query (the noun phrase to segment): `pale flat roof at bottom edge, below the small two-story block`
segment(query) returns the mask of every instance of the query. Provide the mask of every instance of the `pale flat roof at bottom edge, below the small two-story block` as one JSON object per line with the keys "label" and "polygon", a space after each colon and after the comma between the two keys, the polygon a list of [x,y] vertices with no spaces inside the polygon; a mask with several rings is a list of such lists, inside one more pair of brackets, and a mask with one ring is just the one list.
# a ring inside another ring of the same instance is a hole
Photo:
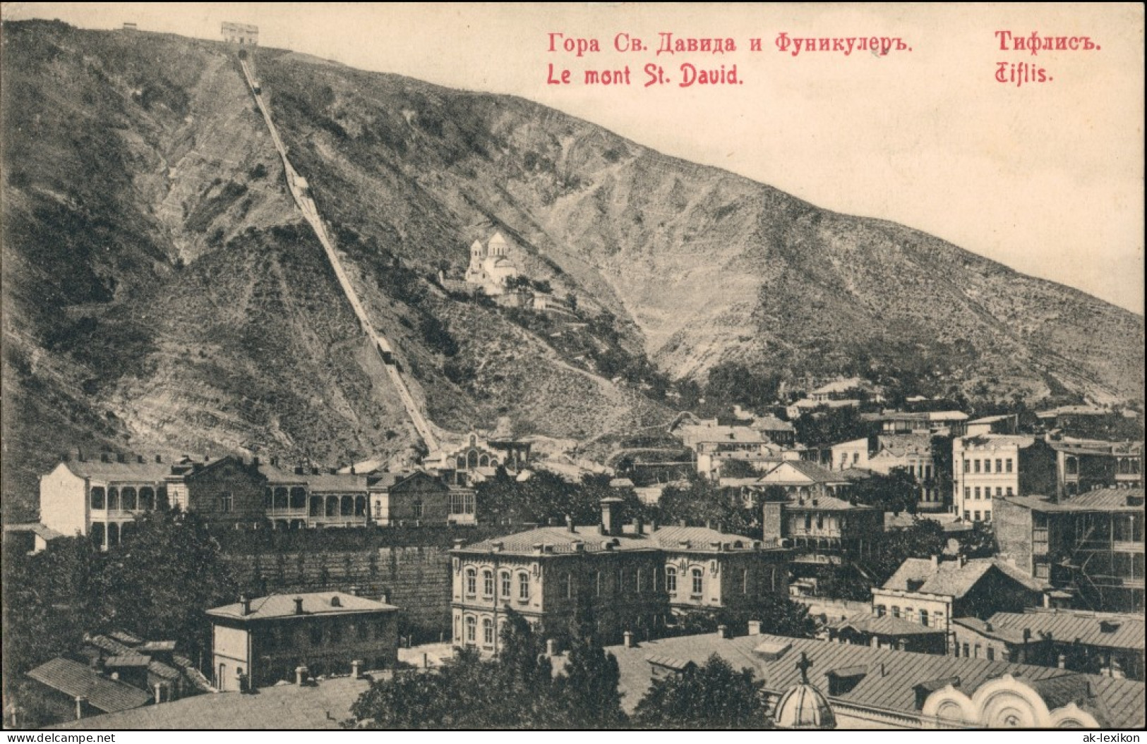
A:
{"label": "pale flat roof at bottom edge, below the small two-story block", "polygon": [[318,687],[282,684],[258,695],[196,695],[114,715],[61,723],[62,729],[338,729],[351,705],[370,687],[368,680],[337,678]]}

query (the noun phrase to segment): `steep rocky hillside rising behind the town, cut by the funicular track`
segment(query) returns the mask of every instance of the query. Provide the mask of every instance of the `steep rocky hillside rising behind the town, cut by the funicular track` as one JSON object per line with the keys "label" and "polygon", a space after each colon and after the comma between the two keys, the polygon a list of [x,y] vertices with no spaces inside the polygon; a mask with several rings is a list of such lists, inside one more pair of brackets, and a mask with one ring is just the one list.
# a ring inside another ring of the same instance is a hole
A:
{"label": "steep rocky hillside rising behind the town, cut by the funicular track", "polygon": [[[416,445],[234,52],[3,28],[6,509],[77,445],[323,464]],[[591,330],[611,319],[582,347],[673,378],[744,360],[1141,397],[1142,318],[1080,292],[529,101],[275,49],[253,62],[373,321],[446,430],[586,439],[670,415],[563,351],[565,331],[438,285],[494,229]]]}

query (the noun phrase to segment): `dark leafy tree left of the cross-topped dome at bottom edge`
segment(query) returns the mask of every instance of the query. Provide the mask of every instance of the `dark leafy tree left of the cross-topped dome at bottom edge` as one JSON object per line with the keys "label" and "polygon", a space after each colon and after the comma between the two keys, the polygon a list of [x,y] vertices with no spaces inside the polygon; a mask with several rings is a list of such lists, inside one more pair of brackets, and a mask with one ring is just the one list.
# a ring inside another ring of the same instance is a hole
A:
{"label": "dark leafy tree left of the cross-topped dome at bottom edge", "polygon": [[715,653],[703,666],[656,680],[638,703],[633,723],[648,729],[759,729],[767,719],[752,672],[734,672]]}

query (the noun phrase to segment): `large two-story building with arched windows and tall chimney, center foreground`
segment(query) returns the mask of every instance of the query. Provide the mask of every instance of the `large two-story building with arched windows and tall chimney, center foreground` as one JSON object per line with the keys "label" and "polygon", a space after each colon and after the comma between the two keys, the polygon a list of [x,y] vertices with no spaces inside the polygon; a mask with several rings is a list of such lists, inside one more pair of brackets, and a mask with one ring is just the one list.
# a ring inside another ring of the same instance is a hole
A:
{"label": "large two-story building with arched windows and tall chimney, center foreground", "polygon": [[788,551],[705,527],[623,528],[602,502],[596,526],[539,527],[453,553],[453,640],[497,652],[506,609],[562,635],[583,603],[607,642],[661,634],[674,613],[748,611],[787,596]]}

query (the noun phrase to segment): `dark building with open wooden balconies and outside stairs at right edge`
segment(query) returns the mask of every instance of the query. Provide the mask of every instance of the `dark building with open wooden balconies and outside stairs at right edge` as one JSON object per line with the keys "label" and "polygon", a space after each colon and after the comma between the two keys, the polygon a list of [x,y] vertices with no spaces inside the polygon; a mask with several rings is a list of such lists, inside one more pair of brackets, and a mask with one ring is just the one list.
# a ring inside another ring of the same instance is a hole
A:
{"label": "dark building with open wooden balconies and outside stairs at right edge", "polygon": [[1080,608],[1144,610],[1144,491],[1000,501],[996,540],[1024,571],[1071,592]]}

